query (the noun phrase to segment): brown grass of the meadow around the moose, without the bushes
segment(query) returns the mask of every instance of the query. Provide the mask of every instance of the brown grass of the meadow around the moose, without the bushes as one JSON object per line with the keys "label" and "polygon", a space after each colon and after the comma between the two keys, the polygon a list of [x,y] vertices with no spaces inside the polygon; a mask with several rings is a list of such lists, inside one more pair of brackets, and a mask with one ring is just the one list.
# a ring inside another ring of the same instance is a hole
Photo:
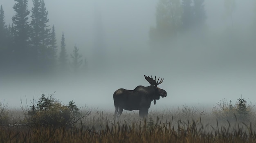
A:
{"label": "brown grass of the meadow around the moose, without the bushes", "polygon": [[182,106],[150,110],[147,119],[137,111],[113,112],[82,108],[91,113],[74,126],[28,125],[25,113],[9,109],[8,123],[0,126],[0,143],[253,143],[254,116],[241,120],[220,119],[211,109]]}

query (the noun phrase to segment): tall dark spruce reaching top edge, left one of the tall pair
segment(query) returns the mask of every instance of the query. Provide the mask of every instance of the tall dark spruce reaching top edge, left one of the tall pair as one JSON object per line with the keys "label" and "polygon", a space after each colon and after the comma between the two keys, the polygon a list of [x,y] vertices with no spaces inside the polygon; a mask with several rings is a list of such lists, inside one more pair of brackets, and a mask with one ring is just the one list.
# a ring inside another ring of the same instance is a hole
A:
{"label": "tall dark spruce reaching top edge, left one of the tall pair", "polygon": [[13,21],[13,42],[12,47],[14,65],[19,66],[20,70],[25,69],[29,60],[29,10],[27,9],[28,0],[14,0],[16,3],[13,6],[15,15]]}

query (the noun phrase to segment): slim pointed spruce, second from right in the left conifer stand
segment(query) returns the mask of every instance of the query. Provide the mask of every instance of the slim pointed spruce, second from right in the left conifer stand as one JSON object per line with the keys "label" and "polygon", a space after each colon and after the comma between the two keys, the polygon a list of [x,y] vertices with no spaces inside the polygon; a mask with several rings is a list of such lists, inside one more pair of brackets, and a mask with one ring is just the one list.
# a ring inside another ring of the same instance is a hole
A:
{"label": "slim pointed spruce, second from right in the left conifer stand", "polygon": [[66,70],[67,69],[67,52],[66,52],[65,36],[63,32],[61,37],[61,51],[60,51],[58,61],[60,64],[59,65],[60,69]]}

